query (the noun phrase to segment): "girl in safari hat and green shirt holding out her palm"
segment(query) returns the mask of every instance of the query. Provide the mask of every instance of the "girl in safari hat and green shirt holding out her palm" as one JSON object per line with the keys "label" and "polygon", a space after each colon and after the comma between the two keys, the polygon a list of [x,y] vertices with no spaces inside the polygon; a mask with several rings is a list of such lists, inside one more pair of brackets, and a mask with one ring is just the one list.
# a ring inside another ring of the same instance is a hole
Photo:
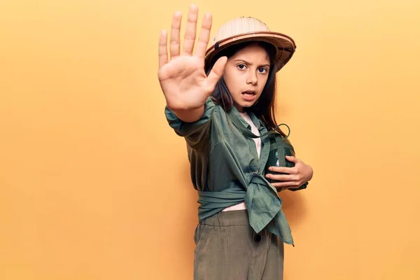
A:
{"label": "girl in safari hat and green shirt holding out her palm", "polygon": [[295,43],[255,18],[237,18],[216,31],[207,50],[207,13],[193,53],[197,16],[197,6],[190,6],[181,52],[181,13],[174,14],[170,59],[164,30],[158,71],[165,114],[186,139],[199,195],[194,279],[283,279],[283,243],[293,238],[278,192],[306,188],[313,175],[293,156],[286,156],[293,167],[268,166],[267,172],[267,132],[287,138],[274,118],[276,72]]}

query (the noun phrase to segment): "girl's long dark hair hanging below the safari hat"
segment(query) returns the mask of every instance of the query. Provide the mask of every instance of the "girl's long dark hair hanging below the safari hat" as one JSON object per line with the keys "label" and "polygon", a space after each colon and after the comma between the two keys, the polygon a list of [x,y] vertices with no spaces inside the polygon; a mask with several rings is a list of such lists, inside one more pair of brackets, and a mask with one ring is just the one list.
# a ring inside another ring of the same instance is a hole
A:
{"label": "girl's long dark hair hanging below the safari hat", "polygon": [[[214,63],[217,61],[218,58],[222,56],[226,57],[232,57],[235,55],[236,52],[239,50],[246,48],[248,45],[251,45],[253,43],[257,43],[262,48],[265,48],[267,51],[267,54],[269,56],[269,73],[267,82],[265,83],[264,89],[262,90],[260,98],[251,106],[250,108],[246,108],[246,111],[252,111],[255,116],[260,118],[262,123],[267,127],[269,130],[276,130],[279,132],[283,137],[286,137],[286,134],[280,130],[279,127],[277,127],[276,123],[276,66],[275,66],[275,57],[276,57],[276,48],[274,45],[265,43],[265,42],[255,42],[255,41],[248,41],[244,43],[238,43],[235,45],[230,45],[228,48],[225,48],[225,50],[222,50],[219,52],[214,59],[209,63],[209,65],[206,67],[207,75],[209,75],[211,68],[213,68]],[[230,95],[230,92],[228,90],[228,86],[226,85],[225,79],[222,77],[220,80],[218,80],[218,83],[216,84],[216,88],[214,89],[214,92],[211,94],[211,99],[216,104],[220,104],[225,110],[225,112],[228,112],[232,109],[233,106],[233,99]]]}

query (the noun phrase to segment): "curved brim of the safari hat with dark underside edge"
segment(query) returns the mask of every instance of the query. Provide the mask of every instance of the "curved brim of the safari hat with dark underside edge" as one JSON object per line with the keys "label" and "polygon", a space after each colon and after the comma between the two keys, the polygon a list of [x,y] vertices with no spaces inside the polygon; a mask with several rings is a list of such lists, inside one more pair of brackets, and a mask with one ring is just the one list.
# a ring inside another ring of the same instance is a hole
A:
{"label": "curved brim of the safari hat with dark underside edge", "polygon": [[213,58],[225,48],[238,43],[244,43],[247,41],[262,41],[271,43],[276,47],[276,67],[279,71],[284,65],[290,60],[296,50],[295,41],[287,35],[272,32],[272,31],[257,31],[239,34],[236,36],[230,36],[221,41],[216,42],[210,48],[207,49],[205,65],[207,66],[212,62]]}

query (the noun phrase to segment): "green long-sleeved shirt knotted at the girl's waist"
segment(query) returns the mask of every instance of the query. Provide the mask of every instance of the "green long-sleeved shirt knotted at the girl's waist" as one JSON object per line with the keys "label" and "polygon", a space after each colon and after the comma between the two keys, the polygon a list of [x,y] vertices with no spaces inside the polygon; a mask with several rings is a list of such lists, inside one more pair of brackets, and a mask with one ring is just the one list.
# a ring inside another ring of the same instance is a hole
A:
{"label": "green long-sleeved shirt knotted at the girl's waist", "polygon": [[[232,113],[251,130],[235,106],[232,106]],[[179,120],[167,107],[165,115],[176,134],[187,142],[191,180],[199,195],[199,220],[245,202],[249,223],[255,232],[267,228],[286,244],[293,244],[290,227],[281,210],[281,198],[265,178],[269,137],[261,137],[258,158],[255,141],[244,137],[222,106],[214,104],[210,97],[204,105],[202,118],[194,123]],[[265,134],[267,128],[262,122],[252,112],[249,116],[260,135]]]}

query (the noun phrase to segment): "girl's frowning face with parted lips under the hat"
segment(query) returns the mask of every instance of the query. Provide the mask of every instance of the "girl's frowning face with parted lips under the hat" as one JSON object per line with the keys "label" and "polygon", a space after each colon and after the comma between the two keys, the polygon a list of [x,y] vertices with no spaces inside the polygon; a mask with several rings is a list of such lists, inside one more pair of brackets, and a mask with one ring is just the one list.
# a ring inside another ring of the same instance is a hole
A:
{"label": "girl's frowning face with parted lips under the hat", "polygon": [[268,73],[269,57],[259,45],[248,45],[228,59],[223,78],[238,111],[243,112],[257,102]]}

